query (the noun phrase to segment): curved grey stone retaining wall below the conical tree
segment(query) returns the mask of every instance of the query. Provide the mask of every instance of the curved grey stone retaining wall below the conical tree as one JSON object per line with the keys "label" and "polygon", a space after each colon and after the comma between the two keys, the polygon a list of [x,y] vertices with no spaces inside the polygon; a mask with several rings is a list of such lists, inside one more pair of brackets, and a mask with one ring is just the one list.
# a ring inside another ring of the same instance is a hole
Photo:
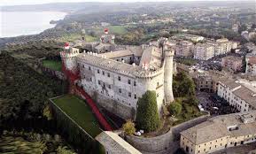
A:
{"label": "curved grey stone retaining wall below the conical tree", "polygon": [[127,142],[134,146],[137,150],[147,154],[170,154],[174,153],[179,148],[180,133],[190,127],[194,127],[199,123],[205,122],[209,115],[191,119],[178,126],[171,127],[170,130],[164,134],[156,137],[145,138],[142,136],[129,135]]}

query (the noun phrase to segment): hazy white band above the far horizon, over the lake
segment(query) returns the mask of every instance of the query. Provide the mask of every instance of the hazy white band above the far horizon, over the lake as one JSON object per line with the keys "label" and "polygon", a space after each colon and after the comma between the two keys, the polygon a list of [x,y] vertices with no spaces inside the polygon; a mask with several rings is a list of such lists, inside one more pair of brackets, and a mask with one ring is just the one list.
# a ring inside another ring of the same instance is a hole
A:
{"label": "hazy white band above the far horizon, over the lake", "polygon": [[[52,3],[134,3],[134,2],[193,2],[193,1],[239,1],[239,0],[1,0],[0,6],[28,5],[28,4],[52,4]],[[250,1],[250,0],[248,0]],[[253,0],[252,0],[253,1]]]}

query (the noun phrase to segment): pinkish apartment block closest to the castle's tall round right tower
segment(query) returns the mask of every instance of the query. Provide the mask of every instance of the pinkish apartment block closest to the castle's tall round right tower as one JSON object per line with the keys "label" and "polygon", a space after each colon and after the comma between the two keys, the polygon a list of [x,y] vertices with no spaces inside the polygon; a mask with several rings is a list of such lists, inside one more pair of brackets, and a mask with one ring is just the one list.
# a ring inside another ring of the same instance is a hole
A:
{"label": "pinkish apartment block closest to the castle's tall round right tower", "polygon": [[193,42],[181,41],[175,45],[175,56],[176,57],[193,57]]}

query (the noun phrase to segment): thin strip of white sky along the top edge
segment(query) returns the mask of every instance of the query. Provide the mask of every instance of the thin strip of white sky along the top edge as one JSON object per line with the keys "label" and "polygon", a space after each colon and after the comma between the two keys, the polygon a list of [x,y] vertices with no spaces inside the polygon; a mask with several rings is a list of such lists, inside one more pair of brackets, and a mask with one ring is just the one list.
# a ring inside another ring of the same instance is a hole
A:
{"label": "thin strip of white sky along the top edge", "polygon": [[[149,0],[0,0],[0,6],[3,5],[19,5],[19,4],[49,4],[61,2],[148,2]],[[163,1],[180,1],[180,0],[150,0],[153,2]],[[182,0],[182,1],[198,1],[198,0]],[[202,1],[202,0],[200,0]],[[204,1],[217,1],[217,0],[204,0]],[[220,0],[218,0],[220,1]],[[227,0],[221,0],[227,1]]]}

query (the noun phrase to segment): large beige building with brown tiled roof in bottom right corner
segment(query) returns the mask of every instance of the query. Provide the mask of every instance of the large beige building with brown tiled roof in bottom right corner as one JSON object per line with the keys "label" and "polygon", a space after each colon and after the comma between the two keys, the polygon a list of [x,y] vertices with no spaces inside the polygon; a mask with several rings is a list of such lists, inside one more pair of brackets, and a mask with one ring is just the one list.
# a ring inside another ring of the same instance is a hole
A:
{"label": "large beige building with brown tiled roof in bottom right corner", "polygon": [[206,154],[256,142],[256,112],[207,119],[182,131],[180,147],[188,154]]}

